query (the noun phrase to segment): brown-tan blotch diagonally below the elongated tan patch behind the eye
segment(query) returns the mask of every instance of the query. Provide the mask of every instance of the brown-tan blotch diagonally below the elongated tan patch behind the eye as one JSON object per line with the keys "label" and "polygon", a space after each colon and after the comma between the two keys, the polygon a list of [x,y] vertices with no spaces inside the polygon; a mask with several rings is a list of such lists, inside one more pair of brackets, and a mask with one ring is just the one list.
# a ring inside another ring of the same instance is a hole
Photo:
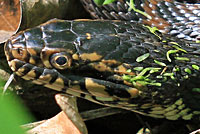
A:
{"label": "brown-tan blotch diagonally below the elongated tan patch behind the eye", "polygon": [[93,68],[95,68],[96,70],[100,71],[100,72],[113,72],[112,69],[110,67],[108,67],[107,65],[105,65],[102,62],[99,63],[91,63],[90,64]]}

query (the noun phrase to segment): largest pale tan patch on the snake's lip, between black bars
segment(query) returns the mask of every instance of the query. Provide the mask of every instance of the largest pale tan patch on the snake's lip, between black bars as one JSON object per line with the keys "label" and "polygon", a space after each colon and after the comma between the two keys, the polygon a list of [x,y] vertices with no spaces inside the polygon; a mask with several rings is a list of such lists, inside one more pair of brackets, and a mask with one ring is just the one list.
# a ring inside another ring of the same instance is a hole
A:
{"label": "largest pale tan patch on the snake's lip, between black bars", "polygon": [[90,92],[94,96],[110,97],[110,95],[105,91],[105,89],[106,89],[105,86],[95,83],[90,78],[87,78],[85,80],[85,85],[86,85],[88,92]]}

